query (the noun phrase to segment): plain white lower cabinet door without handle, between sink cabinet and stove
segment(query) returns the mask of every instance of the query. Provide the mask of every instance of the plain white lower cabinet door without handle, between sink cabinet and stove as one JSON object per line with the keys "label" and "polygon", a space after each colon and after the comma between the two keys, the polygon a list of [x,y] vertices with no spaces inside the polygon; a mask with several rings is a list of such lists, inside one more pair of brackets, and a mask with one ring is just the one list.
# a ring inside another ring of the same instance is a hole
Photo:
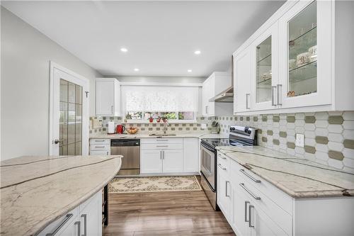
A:
{"label": "plain white lower cabinet door without handle, between sink cabinet and stove", "polygon": [[183,138],[183,172],[199,172],[199,138]]}

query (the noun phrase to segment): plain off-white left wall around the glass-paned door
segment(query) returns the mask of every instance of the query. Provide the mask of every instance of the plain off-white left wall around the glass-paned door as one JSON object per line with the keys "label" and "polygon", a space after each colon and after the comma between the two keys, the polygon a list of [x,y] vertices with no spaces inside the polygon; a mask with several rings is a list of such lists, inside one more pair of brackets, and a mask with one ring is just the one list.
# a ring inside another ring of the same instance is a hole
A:
{"label": "plain off-white left wall around the glass-paned door", "polygon": [[[90,84],[101,77],[1,6],[1,159],[48,154],[50,60],[90,79]],[[92,92],[90,101],[93,115]]]}

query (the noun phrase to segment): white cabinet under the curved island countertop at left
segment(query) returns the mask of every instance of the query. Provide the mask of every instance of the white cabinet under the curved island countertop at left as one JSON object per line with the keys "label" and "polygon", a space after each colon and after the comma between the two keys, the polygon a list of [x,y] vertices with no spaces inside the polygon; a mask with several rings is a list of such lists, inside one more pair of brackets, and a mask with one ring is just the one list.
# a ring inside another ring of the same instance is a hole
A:
{"label": "white cabinet under the curved island countertop at left", "polygon": [[50,223],[39,236],[97,236],[102,235],[102,192]]}

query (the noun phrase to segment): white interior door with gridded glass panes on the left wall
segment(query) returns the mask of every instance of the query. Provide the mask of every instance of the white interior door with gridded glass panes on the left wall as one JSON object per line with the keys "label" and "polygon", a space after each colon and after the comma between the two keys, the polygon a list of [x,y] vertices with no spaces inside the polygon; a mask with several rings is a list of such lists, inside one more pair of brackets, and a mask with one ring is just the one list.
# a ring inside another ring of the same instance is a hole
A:
{"label": "white interior door with gridded glass panes on the left wall", "polygon": [[89,154],[89,80],[50,63],[50,155]]}

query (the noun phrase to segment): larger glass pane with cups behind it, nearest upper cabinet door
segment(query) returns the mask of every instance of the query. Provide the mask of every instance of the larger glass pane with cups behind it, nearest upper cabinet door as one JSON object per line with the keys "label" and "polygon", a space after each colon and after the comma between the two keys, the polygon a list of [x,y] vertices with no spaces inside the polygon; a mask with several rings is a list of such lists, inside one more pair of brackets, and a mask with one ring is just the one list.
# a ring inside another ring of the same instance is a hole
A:
{"label": "larger glass pane with cups behind it, nearest upper cabinet door", "polygon": [[316,5],[313,1],[287,23],[287,97],[317,92]]}

